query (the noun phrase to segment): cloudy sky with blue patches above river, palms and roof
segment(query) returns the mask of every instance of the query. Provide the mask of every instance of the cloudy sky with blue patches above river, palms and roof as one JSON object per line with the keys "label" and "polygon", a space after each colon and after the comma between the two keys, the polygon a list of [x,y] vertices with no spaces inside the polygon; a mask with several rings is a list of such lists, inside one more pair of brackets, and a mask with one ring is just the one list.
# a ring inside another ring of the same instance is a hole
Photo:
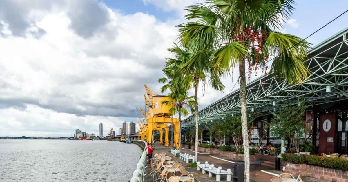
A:
{"label": "cloudy sky with blue patches above river, palms and roof", "polygon": [[[175,26],[185,22],[184,7],[199,1],[0,0],[0,136],[72,136],[76,128],[98,135],[100,122],[105,136],[123,121],[138,122],[144,84],[160,93]],[[281,31],[302,38],[348,5],[296,2]],[[329,38],[346,19],[348,13],[307,40]],[[203,94],[200,85],[200,108],[237,89],[236,78],[223,79],[223,93],[206,87]]]}

